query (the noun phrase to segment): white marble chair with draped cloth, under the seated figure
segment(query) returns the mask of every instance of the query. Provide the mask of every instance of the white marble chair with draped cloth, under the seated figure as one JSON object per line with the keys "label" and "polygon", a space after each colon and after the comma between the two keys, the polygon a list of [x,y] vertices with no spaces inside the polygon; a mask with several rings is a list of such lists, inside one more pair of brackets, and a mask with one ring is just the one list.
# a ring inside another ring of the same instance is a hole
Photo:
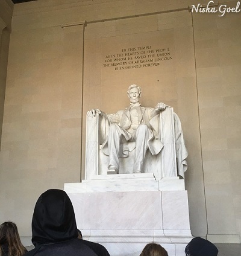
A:
{"label": "white marble chair with draped cloth, under the seated figure", "polygon": [[[184,178],[187,169],[187,150],[184,145],[181,123],[172,107],[167,107],[158,115],[158,138],[164,147],[158,155],[146,152],[143,173],[154,173],[156,179],[164,177]],[[96,175],[107,175],[108,156],[101,150],[108,134],[108,120],[98,114],[87,116],[86,127],[86,180]],[[119,174],[133,173],[134,150],[128,158],[120,159]]]}

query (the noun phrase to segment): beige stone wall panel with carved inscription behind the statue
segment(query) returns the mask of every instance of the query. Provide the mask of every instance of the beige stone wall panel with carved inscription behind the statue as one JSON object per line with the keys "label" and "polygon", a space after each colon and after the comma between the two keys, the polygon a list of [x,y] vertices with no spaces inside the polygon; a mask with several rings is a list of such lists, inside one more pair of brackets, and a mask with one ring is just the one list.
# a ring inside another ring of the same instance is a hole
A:
{"label": "beige stone wall panel with carved inscription behind the statue", "polygon": [[191,230],[205,236],[191,14],[177,11],[87,24],[84,46],[84,113],[92,108],[107,113],[124,109],[133,83],[142,87],[143,106],[155,107],[162,101],[174,107],[189,149],[187,188],[195,188],[189,193]]}

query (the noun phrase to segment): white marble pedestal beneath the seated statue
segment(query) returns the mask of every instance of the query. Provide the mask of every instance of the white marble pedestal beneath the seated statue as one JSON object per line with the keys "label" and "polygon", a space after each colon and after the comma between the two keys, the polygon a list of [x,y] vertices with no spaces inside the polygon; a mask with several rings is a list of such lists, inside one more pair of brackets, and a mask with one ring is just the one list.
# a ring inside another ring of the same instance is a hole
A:
{"label": "white marble pedestal beneath the seated statue", "polygon": [[95,176],[65,184],[77,226],[86,240],[111,256],[136,256],[146,243],[160,243],[169,256],[183,256],[192,239],[187,191],[178,177],[152,173]]}

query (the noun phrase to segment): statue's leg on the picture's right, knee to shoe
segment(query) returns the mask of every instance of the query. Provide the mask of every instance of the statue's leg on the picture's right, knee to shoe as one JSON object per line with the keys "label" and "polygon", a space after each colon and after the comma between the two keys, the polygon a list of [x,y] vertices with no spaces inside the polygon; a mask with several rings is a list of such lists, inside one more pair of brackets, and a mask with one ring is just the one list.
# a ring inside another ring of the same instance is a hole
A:
{"label": "statue's leg on the picture's right, knee to shoe", "polygon": [[148,148],[148,139],[151,136],[151,131],[146,124],[140,124],[136,130],[134,139],[136,139],[135,160],[133,166],[134,173],[142,173],[143,161]]}

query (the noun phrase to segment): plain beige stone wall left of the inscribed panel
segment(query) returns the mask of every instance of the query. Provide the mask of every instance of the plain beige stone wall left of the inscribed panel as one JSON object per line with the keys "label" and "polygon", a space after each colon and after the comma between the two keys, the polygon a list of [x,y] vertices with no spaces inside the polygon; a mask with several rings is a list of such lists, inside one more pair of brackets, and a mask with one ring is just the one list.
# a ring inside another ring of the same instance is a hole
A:
{"label": "plain beige stone wall left of the inscribed panel", "polygon": [[83,29],[11,34],[0,165],[13,205],[1,220],[24,219],[22,235],[40,193],[80,181]]}

